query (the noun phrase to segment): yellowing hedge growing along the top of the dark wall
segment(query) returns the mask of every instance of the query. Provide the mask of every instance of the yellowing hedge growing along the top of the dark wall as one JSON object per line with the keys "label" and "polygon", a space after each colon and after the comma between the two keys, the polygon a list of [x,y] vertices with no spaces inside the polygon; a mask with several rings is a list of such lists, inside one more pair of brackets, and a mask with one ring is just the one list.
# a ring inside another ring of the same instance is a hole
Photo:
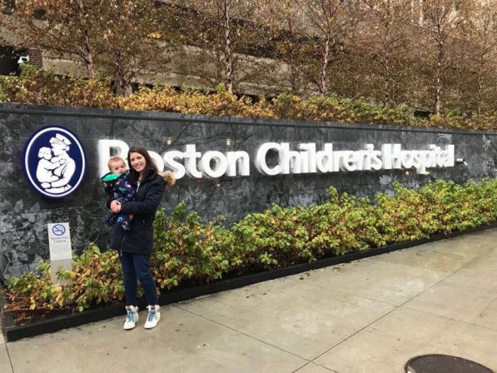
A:
{"label": "yellowing hedge growing along the top of the dark wall", "polygon": [[497,129],[497,113],[460,111],[415,117],[414,110],[394,104],[386,107],[367,104],[357,99],[343,99],[336,94],[327,97],[298,97],[279,94],[268,101],[237,97],[218,85],[215,92],[183,87],[141,87],[129,97],[121,97],[110,89],[110,81],[96,77],[86,80],[72,75],[58,76],[32,65],[21,65],[21,76],[0,76],[0,102],[43,104],[51,106],[104,107],[146,111],[178,112],[248,118],[296,119],[306,121],[338,121],[346,123],[390,124],[400,126],[442,127],[453,129]]}

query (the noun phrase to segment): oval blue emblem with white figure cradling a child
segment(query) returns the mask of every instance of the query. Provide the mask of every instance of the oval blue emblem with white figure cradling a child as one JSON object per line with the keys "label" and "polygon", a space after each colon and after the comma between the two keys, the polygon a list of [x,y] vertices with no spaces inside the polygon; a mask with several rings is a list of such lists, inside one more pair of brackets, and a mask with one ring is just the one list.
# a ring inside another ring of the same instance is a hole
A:
{"label": "oval blue emblem with white figure cradling a child", "polygon": [[80,186],[86,170],[82,144],[64,127],[39,129],[26,143],[23,169],[28,184],[44,197],[67,197]]}

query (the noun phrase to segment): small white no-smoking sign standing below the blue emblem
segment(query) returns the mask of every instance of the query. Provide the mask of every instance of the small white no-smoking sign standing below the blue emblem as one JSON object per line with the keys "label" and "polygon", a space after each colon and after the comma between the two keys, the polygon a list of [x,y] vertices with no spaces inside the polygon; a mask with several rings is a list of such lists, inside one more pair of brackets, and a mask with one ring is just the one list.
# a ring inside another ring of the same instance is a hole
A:
{"label": "small white no-smoking sign standing below the blue emblem", "polygon": [[72,271],[72,246],[69,223],[48,224],[48,247],[50,249],[50,278],[52,283],[61,283],[56,272],[62,266]]}

